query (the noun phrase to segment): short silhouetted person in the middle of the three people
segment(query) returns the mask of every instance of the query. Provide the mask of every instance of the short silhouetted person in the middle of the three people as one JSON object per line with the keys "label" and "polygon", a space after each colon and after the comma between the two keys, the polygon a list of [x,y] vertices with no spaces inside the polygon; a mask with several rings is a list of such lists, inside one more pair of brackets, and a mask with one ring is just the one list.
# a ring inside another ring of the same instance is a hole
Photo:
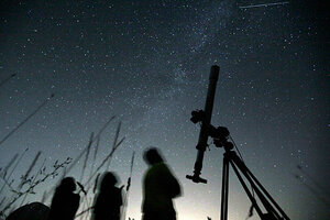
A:
{"label": "short silhouetted person in the middle of the three people", "polygon": [[99,193],[92,210],[94,220],[119,220],[120,207],[122,206],[121,188],[116,187],[118,183],[113,173],[103,175]]}

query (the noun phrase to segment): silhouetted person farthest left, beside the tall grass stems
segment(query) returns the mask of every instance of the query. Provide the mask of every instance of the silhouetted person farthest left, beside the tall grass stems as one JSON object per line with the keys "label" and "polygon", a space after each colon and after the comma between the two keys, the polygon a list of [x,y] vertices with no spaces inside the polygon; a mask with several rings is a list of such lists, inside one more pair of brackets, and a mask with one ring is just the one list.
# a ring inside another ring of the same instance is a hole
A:
{"label": "silhouetted person farthest left, beside the tall grass stems", "polygon": [[53,196],[48,220],[74,220],[79,208],[80,196],[74,194],[76,182],[73,177],[62,179]]}

